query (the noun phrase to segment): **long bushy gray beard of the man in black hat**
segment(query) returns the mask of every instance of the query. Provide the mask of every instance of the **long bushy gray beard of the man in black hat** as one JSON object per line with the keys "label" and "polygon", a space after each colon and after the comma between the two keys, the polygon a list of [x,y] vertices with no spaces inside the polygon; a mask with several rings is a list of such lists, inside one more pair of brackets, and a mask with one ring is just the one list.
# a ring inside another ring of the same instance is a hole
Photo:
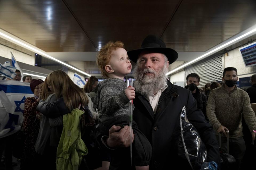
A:
{"label": "long bushy gray beard of the man in black hat", "polygon": [[[139,70],[138,65],[136,65],[133,72],[136,79],[134,81],[134,88],[143,95],[156,94],[167,83],[165,74],[168,72],[168,67],[166,65],[158,72],[150,68]],[[143,75],[144,73],[154,73],[155,76]]]}

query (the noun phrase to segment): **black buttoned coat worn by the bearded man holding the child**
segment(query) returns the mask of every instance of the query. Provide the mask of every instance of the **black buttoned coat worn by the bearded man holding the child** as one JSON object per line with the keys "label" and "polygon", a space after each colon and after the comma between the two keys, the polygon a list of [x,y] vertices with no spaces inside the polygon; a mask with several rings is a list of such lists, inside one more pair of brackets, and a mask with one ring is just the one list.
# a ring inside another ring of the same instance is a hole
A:
{"label": "black buttoned coat worn by the bearded man holding the child", "polygon": [[219,148],[214,130],[205,120],[202,111],[197,109],[194,97],[185,88],[175,86],[169,81],[167,85],[159,98],[155,114],[149,101],[142,94],[136,93],[133,100],[133,118],[153,149],[150,169],[166,169],[172,165],[190,169],[186,161],[178,158],[177,148],[173,145],[173,133],[183,106],[186,106],[188,120],[198,130],[207,147],[207,161],[215,161],[219,165]]}

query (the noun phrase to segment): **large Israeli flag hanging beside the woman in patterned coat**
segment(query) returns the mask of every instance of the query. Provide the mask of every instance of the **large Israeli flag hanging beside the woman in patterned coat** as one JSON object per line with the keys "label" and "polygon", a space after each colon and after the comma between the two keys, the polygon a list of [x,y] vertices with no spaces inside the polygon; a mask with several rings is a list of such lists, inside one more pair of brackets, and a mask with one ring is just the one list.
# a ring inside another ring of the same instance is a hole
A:
{"label": "large Israeli flag hanging beside the woman in patterned coat", "polygon": [[25,99],[34,96],[29,83],[0,80],[0,138],[21,129]]}

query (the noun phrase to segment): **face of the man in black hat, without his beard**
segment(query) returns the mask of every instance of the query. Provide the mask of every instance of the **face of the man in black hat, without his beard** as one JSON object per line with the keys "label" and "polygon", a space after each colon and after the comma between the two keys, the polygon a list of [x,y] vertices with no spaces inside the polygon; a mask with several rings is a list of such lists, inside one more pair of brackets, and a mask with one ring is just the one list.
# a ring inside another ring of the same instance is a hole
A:
{"label": "face of the man in black hat, without his beard", "polygon": [[[148,53],[142,52],[137,60],[138,71],[145,69],[153,70],[155,73],[159,73],[165,65],[169,66],[169,61],[165,61],[165,57],[161,53]],[[143,77],[151,77],[152,79],[158,75],[155,75],[152,71],[146,71],[143,73]]]}

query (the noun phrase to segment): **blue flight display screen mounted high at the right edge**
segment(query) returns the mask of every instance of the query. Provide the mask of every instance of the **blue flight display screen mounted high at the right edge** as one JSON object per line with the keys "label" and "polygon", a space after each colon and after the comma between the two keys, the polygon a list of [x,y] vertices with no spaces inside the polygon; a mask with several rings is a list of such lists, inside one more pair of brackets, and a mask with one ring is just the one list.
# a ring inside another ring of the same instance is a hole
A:
{"label": "blue flight display screen mounted high at the right edge", "polygon": [[256,65],[256,42],[239,48],[246,67]]}

